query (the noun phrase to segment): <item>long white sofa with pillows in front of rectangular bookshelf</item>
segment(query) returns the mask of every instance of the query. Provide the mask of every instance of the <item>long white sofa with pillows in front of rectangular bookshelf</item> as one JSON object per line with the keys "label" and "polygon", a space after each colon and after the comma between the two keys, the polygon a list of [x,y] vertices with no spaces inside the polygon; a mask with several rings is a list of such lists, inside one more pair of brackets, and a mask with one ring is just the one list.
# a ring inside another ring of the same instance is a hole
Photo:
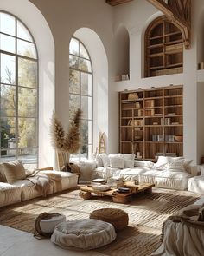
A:
{"label": "long white sofa with pillows in front of rectangular bookshelf", "polygon": [[94,161],[80,165],[88,169],[89,180],[108,181],[112,176],[120,176],[126,181],[150,182],[156,187],[178,190],[188,189],[188,180],[200,174],[200,166],[192,166],[192,161],[184,157],[159,156],[156,163],[134,159],[135,154],[97,154]]}

